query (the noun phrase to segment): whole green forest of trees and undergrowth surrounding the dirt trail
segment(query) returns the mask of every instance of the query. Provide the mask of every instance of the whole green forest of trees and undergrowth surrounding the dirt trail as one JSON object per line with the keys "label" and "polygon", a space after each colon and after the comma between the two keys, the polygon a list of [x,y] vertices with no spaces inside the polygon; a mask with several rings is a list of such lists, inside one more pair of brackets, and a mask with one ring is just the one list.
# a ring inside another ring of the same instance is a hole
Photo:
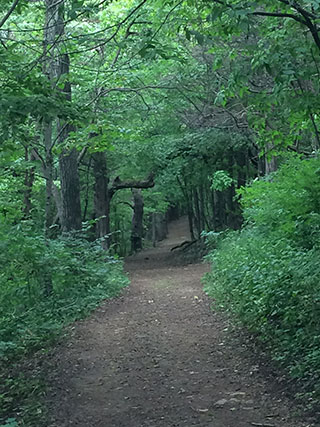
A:
{"label": "whole green forest of trees and undergrowth surrounding the dirt trail", "polygon": [[1,0],[0,425],[41,425],[8,366],[183,215],[205,292],[319,404],[319,78],[319,0]]}

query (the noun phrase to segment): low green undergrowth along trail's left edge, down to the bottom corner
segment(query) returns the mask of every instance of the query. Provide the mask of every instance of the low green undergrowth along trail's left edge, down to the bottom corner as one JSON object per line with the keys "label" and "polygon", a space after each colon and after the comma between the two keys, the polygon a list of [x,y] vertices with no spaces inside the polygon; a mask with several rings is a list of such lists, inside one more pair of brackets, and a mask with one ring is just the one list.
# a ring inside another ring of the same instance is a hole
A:
{"label": "low green undergrowth along trail's left edge, down to the bottom corner", "polygon": [[45,242],[27,223],[0,234],[0,427],[45,425],[41,375],[15,370],[128,279],[99,242],[70,235]]}

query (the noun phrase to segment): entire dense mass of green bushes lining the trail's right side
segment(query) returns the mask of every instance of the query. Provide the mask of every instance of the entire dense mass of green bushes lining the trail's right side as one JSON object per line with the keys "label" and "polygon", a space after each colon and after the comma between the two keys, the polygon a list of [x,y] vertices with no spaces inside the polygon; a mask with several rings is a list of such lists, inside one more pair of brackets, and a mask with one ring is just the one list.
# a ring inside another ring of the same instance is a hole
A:
{"label": "entire dense mass of green bushes lining the trail's right side", "polygon": [[320,398],[320,159],[292,159],[241,190],[247,225],[208,259],[206,292]]}

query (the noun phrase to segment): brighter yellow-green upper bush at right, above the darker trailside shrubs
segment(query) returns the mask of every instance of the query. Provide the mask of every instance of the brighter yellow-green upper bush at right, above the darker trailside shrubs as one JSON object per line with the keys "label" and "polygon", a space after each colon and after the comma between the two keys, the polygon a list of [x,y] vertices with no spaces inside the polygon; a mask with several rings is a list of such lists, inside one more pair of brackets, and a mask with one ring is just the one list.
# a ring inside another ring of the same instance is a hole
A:
{"label": "brighter yellow-green upper bush at right, above the darker trailside shrubs", "polygon": [[320,237],[320,159],[293,158],[275,174],[239,191],[244,217],[261,231],[303,248]]}

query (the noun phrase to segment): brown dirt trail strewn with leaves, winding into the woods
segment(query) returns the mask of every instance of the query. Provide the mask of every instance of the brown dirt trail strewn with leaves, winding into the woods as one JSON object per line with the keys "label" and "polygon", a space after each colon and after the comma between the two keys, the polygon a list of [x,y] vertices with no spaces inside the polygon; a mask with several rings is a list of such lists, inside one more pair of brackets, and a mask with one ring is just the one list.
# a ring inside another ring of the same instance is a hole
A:
{"label": "brown dirt trail strewn with leaves, winding into the woods", "polygon": [[[51,427],[302,427],[202,292],[204,264],[175,266],[188,238],[171,224],[158,248],[130,257],[132,284],[78,322],[53,356]],[[59,353],[58,353],[59,352]]]}

